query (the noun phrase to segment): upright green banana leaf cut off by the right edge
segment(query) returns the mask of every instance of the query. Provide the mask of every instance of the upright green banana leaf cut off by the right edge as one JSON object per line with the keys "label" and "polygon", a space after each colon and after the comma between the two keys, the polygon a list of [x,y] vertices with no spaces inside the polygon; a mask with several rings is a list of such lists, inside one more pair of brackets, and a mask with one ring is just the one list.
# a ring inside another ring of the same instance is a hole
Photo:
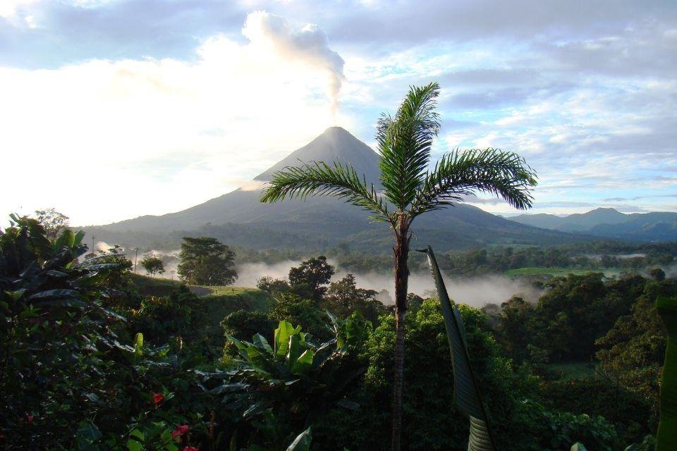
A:
{"label": "upright green banana leaf cut off by the right edge", "polygon": [[659,296],[656,309],[668,331],[661,373],[661,418],[656,434],[656,451],[669,451],[677,447],[677,297]]}

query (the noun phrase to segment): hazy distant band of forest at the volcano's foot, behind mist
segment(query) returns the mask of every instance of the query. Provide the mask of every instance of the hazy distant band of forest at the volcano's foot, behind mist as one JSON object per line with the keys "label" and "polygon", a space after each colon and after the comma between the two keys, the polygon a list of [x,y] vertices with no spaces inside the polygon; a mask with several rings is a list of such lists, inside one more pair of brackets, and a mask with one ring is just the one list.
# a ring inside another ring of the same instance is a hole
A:
{"label": "hazy distant band of forest at the volcano's foot, behind mist", "polygon": [[[306,235],[293,235],[268,228],[252,228],[242,224],[207,224],[190,232],[167,231],[148,234],[140,231],[111,231],[90,227],[92,235],[109,237],[111,242],[126,248],[142,247],[142,252],[151,249],[169,252],[178,249],[184,236],[215,237],[220,242],[231,243],[231,249],[238,254],[236,264],[277,263],[300,261],[313,255],[324,254],[338,264],[338,268],[353,273],[391,270],[390,252],[372,252],[360,249],[360,245],[349,242],[330,242]],[[240,242],[246,235],[247,242]],[[260,243],[274,240],[274,248],[261,249]],[[237,242],[237,245],[232,245]],[[383,249],[389,249],[385,244]],[[637,257],[619,257],[641,254]],[[621,242],[598,240],[559,246],[496,246],[465,251],[438,252],[441,268],[455,275],[481,275],[504,273],[511,269],[614,268],[619,271],[640,271],[650,267],[665,267],[672,264],[677,256],[677,242]],[[169,259],[168,259],[169,260]],[[425,258],[413,254],[411,263],[414,270],[425,270]]]}

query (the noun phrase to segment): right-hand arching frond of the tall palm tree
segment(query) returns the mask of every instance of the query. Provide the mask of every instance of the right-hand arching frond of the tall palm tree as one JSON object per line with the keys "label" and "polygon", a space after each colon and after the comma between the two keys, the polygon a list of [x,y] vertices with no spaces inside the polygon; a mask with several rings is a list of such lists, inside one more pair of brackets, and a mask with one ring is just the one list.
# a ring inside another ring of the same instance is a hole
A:
{"label": "right-hand arching frond of the tall palm tree", "polygon": [[530,187],[537,184],[535,171],[513,152],[501,149],[459,149],[444,155],[416,193],[412,217],[461,202],[475,192],[495,194],[516,209],[532,205]]}

